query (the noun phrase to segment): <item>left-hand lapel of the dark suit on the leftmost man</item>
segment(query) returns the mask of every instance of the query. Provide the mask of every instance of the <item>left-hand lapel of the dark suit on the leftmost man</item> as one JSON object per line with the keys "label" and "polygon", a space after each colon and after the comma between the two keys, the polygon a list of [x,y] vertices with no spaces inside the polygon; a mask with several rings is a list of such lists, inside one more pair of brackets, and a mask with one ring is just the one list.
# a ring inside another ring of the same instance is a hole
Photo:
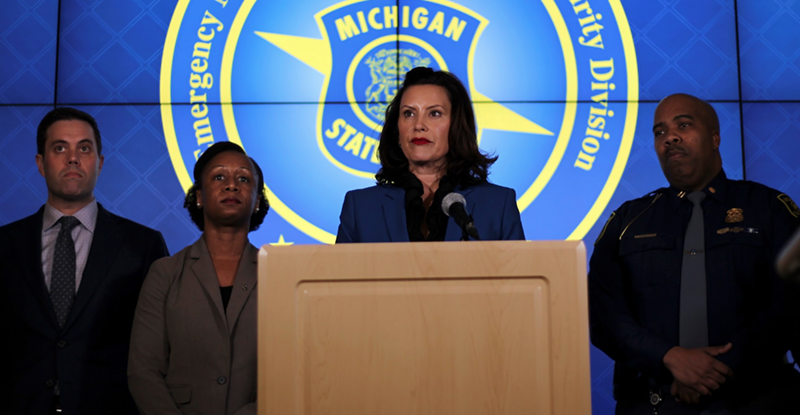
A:
{"label": "left-hand lapel of the dark suit on the leftmost man", "polygon": [[31,232],[19,235],[20,243],[17,246],[17,258],[22,258],[21,278],[25,279],[28,287],[33,293],[33,297],[42,307],[42,312],[47,316],[55,329],[58,329],[56,312],[53,310],[53,303],[50,301],[50,292],[44,284],[44,272],[42,271],[42,220],[44,216],[44,206],[35,215],[29,216],[25,226]]}

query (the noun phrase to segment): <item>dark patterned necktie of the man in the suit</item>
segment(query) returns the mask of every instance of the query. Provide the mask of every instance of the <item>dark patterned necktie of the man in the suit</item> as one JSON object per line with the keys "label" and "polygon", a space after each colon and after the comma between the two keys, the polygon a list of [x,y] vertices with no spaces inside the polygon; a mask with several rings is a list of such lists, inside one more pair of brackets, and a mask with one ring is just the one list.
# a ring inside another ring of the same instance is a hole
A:
{"label": "dark patterned necktie of the man in the suit", "polygon": [[50,301],[53,302],[58,325],[64,327],[75,300],[75,242],[72,240],[72,230],[81,222],[74,216],[62,216],[58,222],[61,223],[61,230],[58,231],[53,254]]}

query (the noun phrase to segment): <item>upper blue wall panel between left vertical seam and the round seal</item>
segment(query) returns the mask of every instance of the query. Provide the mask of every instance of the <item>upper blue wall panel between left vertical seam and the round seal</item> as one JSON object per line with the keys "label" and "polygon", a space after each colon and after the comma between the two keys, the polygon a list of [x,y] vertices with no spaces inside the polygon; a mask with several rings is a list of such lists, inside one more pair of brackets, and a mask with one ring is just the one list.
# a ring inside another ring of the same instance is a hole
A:
{"label": "upper blue wall panel between left vertical seam and the round seal", "polygon": [[174,0],[61,0],[58,102],[159,102],[174,7]]}

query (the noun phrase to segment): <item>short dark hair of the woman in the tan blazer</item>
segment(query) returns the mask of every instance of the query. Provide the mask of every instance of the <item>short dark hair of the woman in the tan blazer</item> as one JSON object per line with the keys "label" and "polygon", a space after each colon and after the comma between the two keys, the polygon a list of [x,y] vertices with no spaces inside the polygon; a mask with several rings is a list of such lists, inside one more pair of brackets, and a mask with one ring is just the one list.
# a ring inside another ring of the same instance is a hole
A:
{"label": "short dark hair of the woman in the tan blazer", "polygon": [[[238,144],[230,141],[220,141],[206,149],[206,151],[200,155],[200,158],[197,159],[197,163],[194,164],[194,184],[192,184],[192,187],[186,192],[186,198],[183,200],[183,207],[189,211],[189,217],[201,231],[205,228],[205,218],[203,217],[203,210],[197,207],[197,190],[203,188],[203,169],[205,169],[208,162],[211,161],[214,156],[226,151],[235,151],[247,155],[244,149]],[[258,186],[258,195],[256,196],[258,212],[250,216],[250,232],[252,232],[264,223],[264,217],[267,216],[267,211],[269,211],[269,201],[267,201],[267,196],[264,194],[264,174],[261,172],[261,167],[252,157],[248,156],[248,158],[250,162],[253,163],[253,167],[256,169],[256,176],[258,177],[256,180]]]}

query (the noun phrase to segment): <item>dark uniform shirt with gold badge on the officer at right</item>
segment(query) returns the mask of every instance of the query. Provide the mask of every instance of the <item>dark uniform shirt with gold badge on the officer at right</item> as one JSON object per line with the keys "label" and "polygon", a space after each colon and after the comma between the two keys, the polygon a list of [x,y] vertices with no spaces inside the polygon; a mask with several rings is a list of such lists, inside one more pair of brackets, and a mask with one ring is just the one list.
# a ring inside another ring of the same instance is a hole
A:
{"label": "dark uniform shirt with gold badge on the officer at right", "polygon": [[[798,213],[788,196],[728,180],[724,172],[703,191],[709,345],[733,343],[717,358],[733,369],[736,382],[767,387],[797,324],[787,321],[784,282],[773,264],[800,226]],[[683,240],[692,213],[685,194],[662,188],[625,202],[595,242],[591,339],[616,361],[618,399],[639,393],[644,382],[672,382],[662,359],[678,345]]]}

